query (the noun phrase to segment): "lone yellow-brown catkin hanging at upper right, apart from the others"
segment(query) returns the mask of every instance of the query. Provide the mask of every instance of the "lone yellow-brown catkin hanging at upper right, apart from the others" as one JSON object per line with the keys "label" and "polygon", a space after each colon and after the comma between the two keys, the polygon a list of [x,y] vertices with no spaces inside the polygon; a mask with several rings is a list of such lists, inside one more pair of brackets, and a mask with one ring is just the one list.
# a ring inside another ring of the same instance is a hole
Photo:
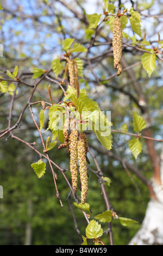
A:
{"label": "lone yellow-brown catkin hanging at upper right, apart from the others", "polygon": [[116,17],[112,22],[112,47],[114,55],[114,68],[118,69],[118,75],[122,72],[122,27],[119,17]]}

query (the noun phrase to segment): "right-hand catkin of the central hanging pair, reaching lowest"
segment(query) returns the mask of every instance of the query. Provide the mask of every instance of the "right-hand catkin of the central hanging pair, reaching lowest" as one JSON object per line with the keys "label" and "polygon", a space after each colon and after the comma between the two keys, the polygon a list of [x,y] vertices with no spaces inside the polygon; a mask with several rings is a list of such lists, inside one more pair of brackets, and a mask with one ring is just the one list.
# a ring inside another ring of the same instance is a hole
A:
{"label": "right-hand catkin of the central hanging pair, reaching lowest", "polygon": [[88,191],[88,177],[86,168],[85,135],[83,135],[83,133],[80,133],[80,138],[78,141],[78,161],[81,184],[81,202],[82,204],[85,204]]}

